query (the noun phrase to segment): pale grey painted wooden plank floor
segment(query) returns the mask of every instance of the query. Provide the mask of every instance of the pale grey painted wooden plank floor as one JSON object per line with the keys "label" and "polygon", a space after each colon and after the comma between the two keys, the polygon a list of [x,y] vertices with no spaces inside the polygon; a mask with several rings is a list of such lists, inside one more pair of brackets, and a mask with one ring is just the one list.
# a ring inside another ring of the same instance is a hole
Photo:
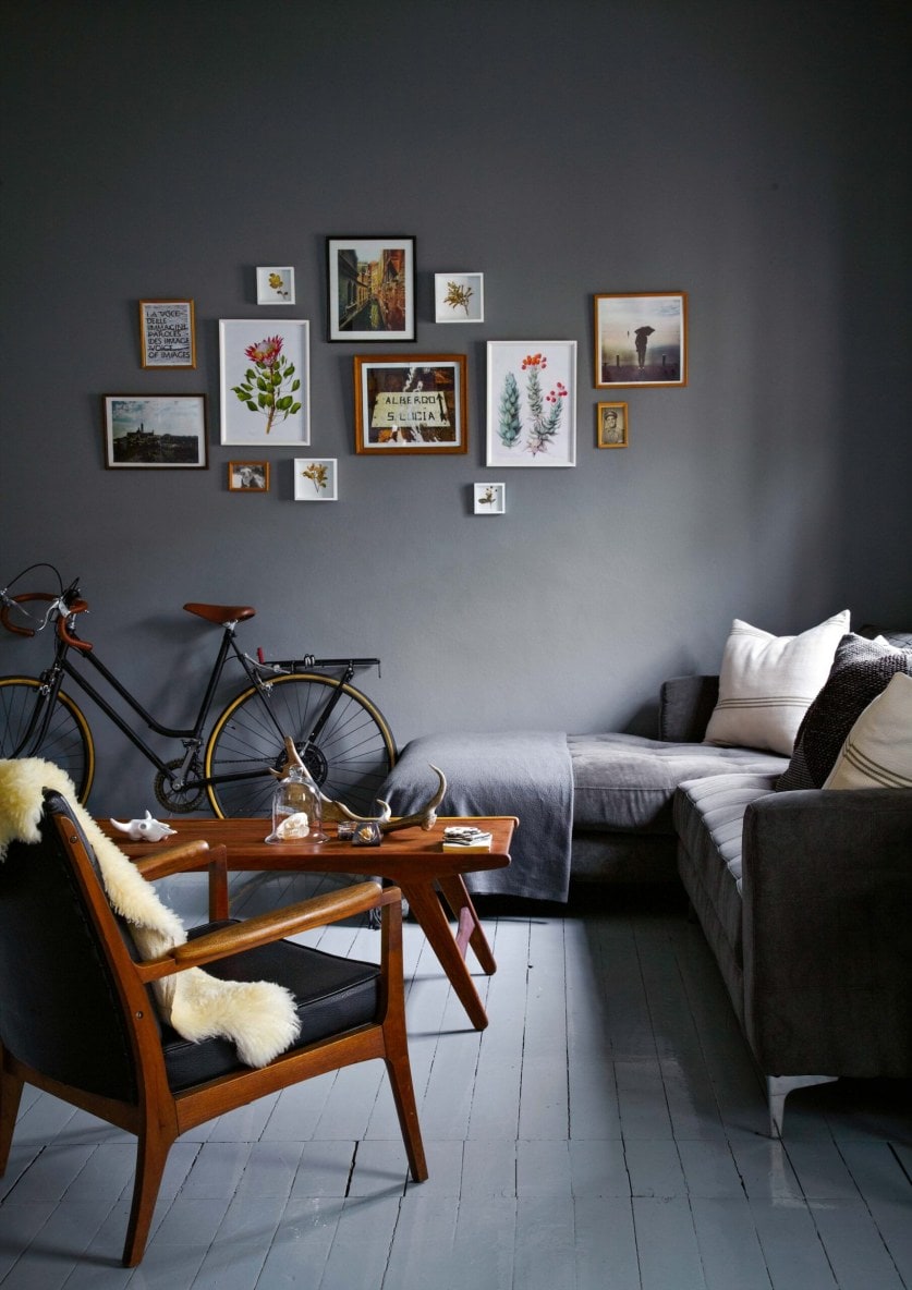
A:
{"label": "pale grey painted wooden plank floor", "polygon": [[[193,877],[165,898],[204,918]],[[235,909],[308,880],[235,878]],[[431,1178],[406,1183],[379,1063],[174,1147],[142,1265],[119,1267],[133,1139],[31,1090],[0,1180],[8,1290],[899,1290],[912,1287],[909,1086],[793,1094],[783,1142],[712,957],[654,898],[491,913],[468,1028],[406,925]],[[313,938],[311,938],[313,940]],[[375,957],[343,926],[324,948]]]}

